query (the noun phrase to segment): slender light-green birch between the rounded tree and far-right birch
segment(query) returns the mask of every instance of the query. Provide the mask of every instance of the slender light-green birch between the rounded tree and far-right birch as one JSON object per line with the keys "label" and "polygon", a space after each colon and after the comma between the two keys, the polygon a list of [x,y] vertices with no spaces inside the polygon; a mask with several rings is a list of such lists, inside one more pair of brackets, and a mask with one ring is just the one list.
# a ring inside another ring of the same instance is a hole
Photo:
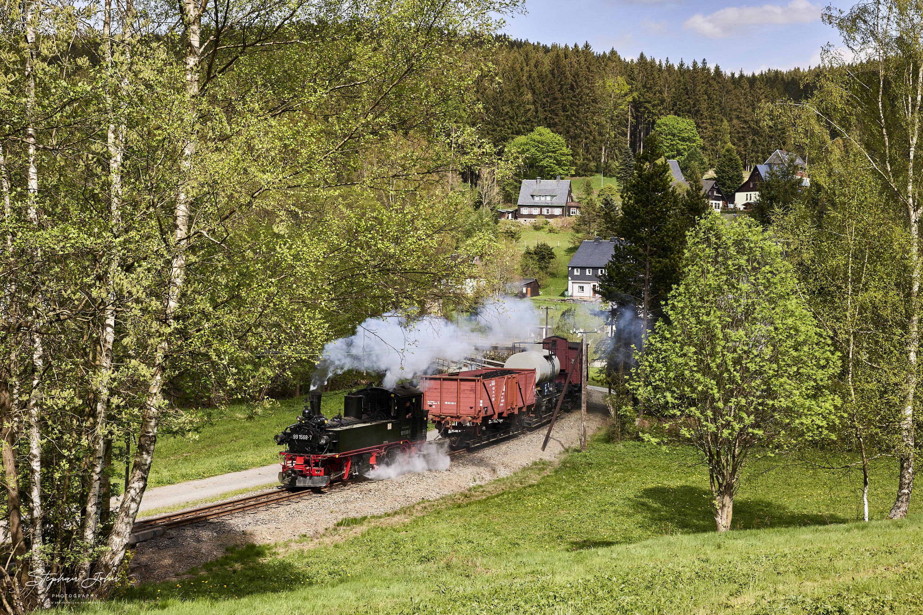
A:
{"label": "slender light-green birch between the rounded tree and far-right birch", "polygon": [[822,206],[817,196],[802,195],[775,217],[773,232],[785,238],[811,312],[842,358],[832,385],[843,400],[843,420],[827,450],[835,446],[847,456],[839,467],[861,468],[868,521],[869,462],[901,449],[909,238],[902,212],[890,207],[857,148],[840,139],[813,145],[811,188]]}

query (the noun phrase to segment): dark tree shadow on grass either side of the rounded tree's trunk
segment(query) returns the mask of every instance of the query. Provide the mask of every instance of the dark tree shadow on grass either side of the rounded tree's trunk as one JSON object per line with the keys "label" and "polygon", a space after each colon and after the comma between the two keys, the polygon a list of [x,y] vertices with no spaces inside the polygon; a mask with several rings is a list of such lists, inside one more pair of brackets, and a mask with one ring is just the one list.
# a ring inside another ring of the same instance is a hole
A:
{"label": "dark tree shadow on grass either side of the rounded tree's trunk", "polygon": [[[646,515],[654,527],[665,534],[674,532],[713,532],[712,492],[691,485],[657,486],[641,491],[635,510]],[[737,497],[732,517],[734,529],[764,527],[826,526],[846,523],[838,514],[811,514],[793,511],[770,500]]]}

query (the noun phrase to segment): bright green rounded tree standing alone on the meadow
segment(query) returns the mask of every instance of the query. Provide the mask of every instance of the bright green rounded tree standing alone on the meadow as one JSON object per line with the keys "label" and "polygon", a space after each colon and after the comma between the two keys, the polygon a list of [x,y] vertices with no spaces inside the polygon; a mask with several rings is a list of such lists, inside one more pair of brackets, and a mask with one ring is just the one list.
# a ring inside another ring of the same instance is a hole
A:
{"label": "bright green rounded tree standing alone on the meadow", "polygon": [[837,361],[780,246],[749,219],[690,232],[665,314],[629,386],[665,416],[665,434],[699,450],[726,531],[751,456],[831,434]]}

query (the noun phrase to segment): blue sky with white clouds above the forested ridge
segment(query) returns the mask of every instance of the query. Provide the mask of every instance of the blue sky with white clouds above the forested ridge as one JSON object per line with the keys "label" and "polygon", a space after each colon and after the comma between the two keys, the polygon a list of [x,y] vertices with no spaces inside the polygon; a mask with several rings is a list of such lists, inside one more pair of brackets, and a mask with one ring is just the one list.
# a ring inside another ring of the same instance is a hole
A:
{"label": "blue sky with white clouds above the forested ridge", "polygon": [[[725,71],[818,65],[821,47],[840,44],[821,23],[828,0],[526,0],[527,15],[508,18],[509,36],[533,42],[583,44],[597,52],[615,48],[623,57],[638,53],[693,58]],[[834,0],[848,8],[851,2]]]}

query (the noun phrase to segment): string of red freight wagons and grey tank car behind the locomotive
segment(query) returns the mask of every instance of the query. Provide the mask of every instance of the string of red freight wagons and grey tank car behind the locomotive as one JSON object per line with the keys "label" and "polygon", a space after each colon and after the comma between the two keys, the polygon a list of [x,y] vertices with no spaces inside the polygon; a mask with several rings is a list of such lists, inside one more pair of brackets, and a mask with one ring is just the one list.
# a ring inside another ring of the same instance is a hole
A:
{"label": "string of red freight wagons and grey tank car behind the locomotive", "polygon": [[581,369],[580,344],[553,336],[511,355],[503,369],[423,376],[420,388],[439,436],[455,448],[477,446],[551,420],[558,401],[573,408]]}

